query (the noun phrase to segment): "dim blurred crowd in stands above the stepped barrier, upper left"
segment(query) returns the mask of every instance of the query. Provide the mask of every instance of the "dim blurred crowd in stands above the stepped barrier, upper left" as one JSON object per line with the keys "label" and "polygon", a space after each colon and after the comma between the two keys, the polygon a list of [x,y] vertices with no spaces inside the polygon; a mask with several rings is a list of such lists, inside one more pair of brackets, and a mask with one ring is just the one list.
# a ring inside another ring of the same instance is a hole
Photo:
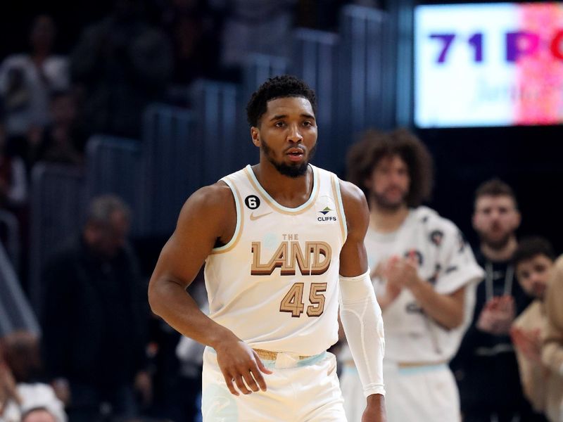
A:
{"label": "dim blurred crowd in stands above the stepped barrier, upper left", "polygon": [[[339,9],[348,3],[377,6],[345,0],[118,0],[106,2],[100,20],[84,21],[70,42],[70,27],[80,23],[46,13],[30,19],[27,49],[0,59],[0,207],[18,219],[22,279],[37,162],[83,166],[93,134],[139,139],[148,104],[189,107],[187,87],[198,78],[241,82],[248,54],[287,56],[294,27],[334,30]],[[4,222],[0,236],[6,238]]]}

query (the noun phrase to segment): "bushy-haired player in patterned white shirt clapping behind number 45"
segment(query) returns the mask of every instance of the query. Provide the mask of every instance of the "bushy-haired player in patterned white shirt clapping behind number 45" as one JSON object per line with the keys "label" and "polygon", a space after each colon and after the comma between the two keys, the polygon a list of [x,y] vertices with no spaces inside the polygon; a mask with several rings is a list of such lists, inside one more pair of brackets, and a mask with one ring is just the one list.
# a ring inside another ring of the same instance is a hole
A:
{"label": "bushy-haired player in patterned white shirt clapping behind number 45", "polygon": [[[431,184],[431,158],[405,130],[367,132],[348,156],[349,180],[369,200],[365,239],[386,329],[386,407],[390,422],[460,421],[448,368],[483,276],[459,229],[420,206]],[[348,419],[355,415],[358,372],[341,354]]]}

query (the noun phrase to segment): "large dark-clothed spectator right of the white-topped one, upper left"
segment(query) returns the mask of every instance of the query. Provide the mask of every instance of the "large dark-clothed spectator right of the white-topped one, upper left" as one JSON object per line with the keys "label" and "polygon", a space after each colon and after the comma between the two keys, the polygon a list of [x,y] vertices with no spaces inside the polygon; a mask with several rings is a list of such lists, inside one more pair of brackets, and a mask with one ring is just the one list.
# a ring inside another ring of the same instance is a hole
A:
{"label": "large dark-clothed spectator right of the white-topped one, upper left", "polygon": [[87,27],[71,60],[87,134],[139,138],[144,108],[159,101],[172,77],[172,48],[146,23],[141,0],[117,0]]}

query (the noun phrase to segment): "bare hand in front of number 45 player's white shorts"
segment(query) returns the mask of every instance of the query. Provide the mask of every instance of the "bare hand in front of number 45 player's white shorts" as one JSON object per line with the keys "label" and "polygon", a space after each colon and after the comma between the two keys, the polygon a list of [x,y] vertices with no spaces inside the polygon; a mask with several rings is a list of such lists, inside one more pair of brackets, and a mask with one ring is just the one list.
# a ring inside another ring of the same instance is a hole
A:
{"label": "bare hand in front of number 45 player's white shorts", "polygon": [[270,374],[272,371],[262,364],[260,357],[251,347],[236,339],[222,343],[215,350],[224,382],[233,395],[238,396],[239,391],[245,395],[259,390],[266,391],[266,381],[262,373]]}

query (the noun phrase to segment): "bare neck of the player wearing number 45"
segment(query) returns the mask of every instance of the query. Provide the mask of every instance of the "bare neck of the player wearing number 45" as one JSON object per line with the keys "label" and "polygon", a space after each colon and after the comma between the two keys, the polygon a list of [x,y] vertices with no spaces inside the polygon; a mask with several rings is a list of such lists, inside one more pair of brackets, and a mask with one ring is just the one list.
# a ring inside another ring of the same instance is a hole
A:
{"label": "bare neck of the player wearing number 45", "polygon": [[300,177],[285,176],[273,165],[264,162],[254,165],[252,170],[260,186],[262,186],[279,205],[290,208],[298,207],[303,205],[311,195],[313,174],[312,167],[310,166],[307,172]]}

